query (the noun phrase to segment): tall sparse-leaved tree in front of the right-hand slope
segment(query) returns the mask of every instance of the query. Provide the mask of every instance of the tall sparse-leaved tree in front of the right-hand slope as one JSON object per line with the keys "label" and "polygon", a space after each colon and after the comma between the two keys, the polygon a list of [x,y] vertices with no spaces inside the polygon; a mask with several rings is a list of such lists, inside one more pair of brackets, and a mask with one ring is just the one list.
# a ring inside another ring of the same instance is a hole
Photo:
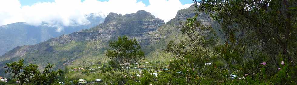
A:
{"label": "tall sparse-leaved tree in front of the right-hand slope", "polygon": [[205,63],[215,62],[211,57],[214,57],[212,50],[218,38],[212,27],[204,26],[196,20],[197,16],[181,23],[182,26],[178,29],[185,35],[184,39],[180,42],[171,40],[165,50],[175,56],[174,60],[169,62],[169,69],[173,77],[179,81],[172,81],[172,84],[199,84],[200,82],[195,78],[201,76],[222,80],[209,75],[213,72],[206,71],[208,66],[205,66]]}

